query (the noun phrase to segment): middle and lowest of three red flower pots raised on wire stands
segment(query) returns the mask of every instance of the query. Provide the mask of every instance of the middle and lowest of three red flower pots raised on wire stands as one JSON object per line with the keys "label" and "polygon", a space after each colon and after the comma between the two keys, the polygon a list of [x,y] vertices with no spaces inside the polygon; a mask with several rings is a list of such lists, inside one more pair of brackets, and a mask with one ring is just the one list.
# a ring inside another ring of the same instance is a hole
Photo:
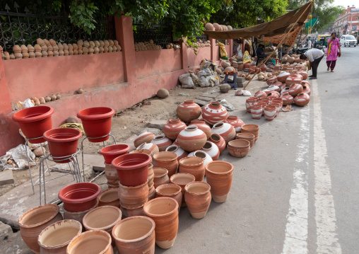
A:
{"label": "middle and lowest of three red flower pots raised on wire stands", "polygon": [[49,129],[44,133],[44,139],[49,144],[50,154],[57,163],[70,162],[70,160],[62,160],[76,153],[78,139],[81,136],[82,133],[78,129],[72,128]]}

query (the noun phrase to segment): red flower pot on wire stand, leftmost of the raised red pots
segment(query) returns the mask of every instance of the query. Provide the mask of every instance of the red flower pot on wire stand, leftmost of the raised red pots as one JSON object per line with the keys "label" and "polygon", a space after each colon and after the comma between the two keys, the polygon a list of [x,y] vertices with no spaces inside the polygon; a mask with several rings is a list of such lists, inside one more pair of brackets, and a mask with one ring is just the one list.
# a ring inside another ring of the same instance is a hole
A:
{"label": "red flower pot on wire stand, leftmost of the raised red pots", "polygon": [[32,139],[31,143],[40,144],[45,139],[34,139],[42,137],[44,132],[52,128],[51,115],[54,110],[47,106],[36,106],[24,108],[13,114],[13,121],[20,125],[20,129],[28,139]]}

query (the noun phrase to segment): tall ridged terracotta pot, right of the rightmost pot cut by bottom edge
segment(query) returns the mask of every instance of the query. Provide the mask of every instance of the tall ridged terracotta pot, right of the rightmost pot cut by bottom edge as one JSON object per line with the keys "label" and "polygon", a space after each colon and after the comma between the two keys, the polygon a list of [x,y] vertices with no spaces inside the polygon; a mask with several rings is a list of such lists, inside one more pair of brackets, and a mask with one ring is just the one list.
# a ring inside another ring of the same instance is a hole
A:
{"label": "tall ridged terracotta pot, right of the rightmost pot cut by bottom edge", "polygon": [[155,221],[155,243],[167,249],[175,243],[178,231],[178,203],[171,197],[157,197],[145,204],[145,214]]}

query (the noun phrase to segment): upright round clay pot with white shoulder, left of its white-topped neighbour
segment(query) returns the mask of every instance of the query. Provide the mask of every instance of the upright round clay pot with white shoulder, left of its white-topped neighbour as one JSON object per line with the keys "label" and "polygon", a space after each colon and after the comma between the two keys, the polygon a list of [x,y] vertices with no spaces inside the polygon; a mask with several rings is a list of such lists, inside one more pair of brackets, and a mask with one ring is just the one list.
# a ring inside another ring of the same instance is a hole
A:
{"label": "upright round clay pot with white shoulder, left of its white-topped neighbour", "polygon": [[196,126],[186,127],[179,132],[177,142],[184,151],[196,151],[206,144],[206,134]]}

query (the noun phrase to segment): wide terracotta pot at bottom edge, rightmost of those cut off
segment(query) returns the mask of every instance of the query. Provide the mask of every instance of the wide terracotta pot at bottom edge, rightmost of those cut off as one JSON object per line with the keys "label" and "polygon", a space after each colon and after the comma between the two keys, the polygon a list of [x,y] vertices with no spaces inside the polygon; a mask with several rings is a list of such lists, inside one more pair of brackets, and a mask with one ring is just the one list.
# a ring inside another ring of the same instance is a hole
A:
{"label": "wide terracotta pot at bottom edge, rightmost of those cut off", "polygon": [[155,221],[151,218],[136,216],[123,219],[112,229],[112,236],[119,253],[155,253]]}

